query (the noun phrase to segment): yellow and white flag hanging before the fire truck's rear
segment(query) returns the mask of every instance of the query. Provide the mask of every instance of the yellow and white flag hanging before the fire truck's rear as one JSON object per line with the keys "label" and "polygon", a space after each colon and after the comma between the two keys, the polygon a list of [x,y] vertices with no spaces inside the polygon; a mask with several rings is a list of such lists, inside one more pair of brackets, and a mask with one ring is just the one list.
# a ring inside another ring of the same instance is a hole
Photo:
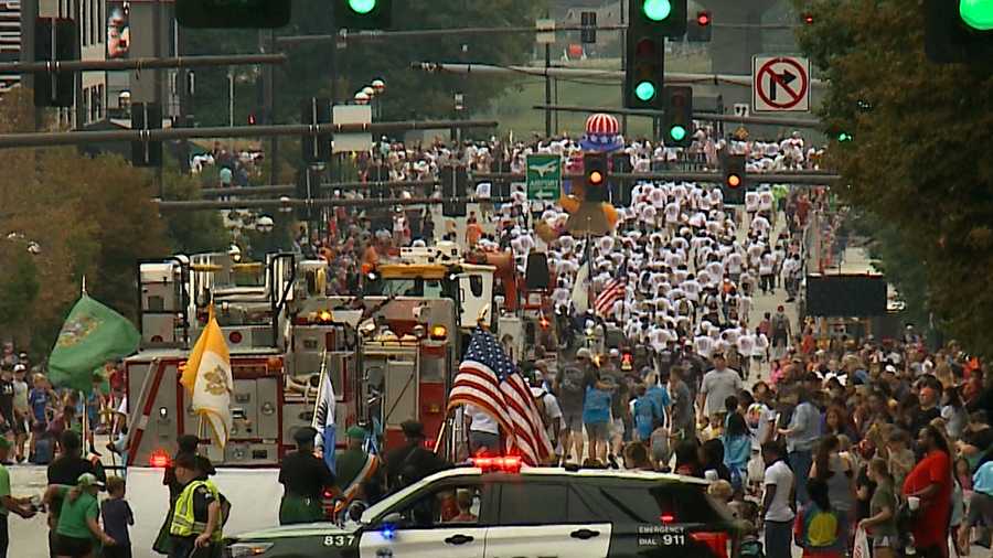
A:
{"label": "yellow and white flag hanging before the fire truck's rear", "polygon": [[224,341],[224,332],[214,318],[213,305],[207,325],[193,345],[180,383],[193,400],[193,411],[211,425],[214,439],[223,449],[227,446],[232,427],[231,394],[234,390],[234,378],[231,374],[231,354]]}

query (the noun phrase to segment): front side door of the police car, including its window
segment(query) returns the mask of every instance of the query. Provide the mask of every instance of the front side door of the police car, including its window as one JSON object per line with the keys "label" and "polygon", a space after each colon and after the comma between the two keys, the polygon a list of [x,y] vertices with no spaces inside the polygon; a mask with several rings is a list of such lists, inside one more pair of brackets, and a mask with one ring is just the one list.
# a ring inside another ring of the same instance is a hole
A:
{"label": "front side door of the police car, including its window", "polygon": [[483,558],[491,502],[478,480],[426,486],[363,532],[360,558]]}

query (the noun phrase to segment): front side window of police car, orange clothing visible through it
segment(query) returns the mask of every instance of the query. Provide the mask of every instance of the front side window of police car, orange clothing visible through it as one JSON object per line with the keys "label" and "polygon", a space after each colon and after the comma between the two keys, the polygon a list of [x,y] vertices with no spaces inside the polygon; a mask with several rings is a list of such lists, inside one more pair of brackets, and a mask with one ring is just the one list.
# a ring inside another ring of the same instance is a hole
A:
{"label": "front side window of police car, orange clothing visible through it", "polygon": [[410,528],[445,525],[476,525],[482,511],[482,490],[479,484],[450,484],[421,493],[389,511],[404,518]]}

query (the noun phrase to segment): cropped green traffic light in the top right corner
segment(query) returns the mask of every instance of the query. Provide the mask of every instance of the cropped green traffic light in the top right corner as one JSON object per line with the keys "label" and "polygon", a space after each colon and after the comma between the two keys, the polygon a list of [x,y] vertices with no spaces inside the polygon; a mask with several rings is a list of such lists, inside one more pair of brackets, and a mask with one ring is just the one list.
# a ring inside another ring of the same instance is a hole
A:
{"label": "cropped green traffic light in the top right corner", "polygon": [[993,0],[926,0],[925,20],[932,62],[993,64]]}

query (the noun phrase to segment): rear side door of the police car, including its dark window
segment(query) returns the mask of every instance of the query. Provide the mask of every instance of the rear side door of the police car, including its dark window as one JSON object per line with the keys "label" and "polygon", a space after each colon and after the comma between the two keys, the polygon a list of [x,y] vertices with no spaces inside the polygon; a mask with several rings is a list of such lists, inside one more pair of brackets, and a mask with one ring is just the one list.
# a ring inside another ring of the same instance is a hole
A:
{"label": "rear side door of the police car, including its dark window", "polygon": [[595,517],[564,482],[501,483],[499,517],[487,533],[487,558],[604,558],[610,524]]}

